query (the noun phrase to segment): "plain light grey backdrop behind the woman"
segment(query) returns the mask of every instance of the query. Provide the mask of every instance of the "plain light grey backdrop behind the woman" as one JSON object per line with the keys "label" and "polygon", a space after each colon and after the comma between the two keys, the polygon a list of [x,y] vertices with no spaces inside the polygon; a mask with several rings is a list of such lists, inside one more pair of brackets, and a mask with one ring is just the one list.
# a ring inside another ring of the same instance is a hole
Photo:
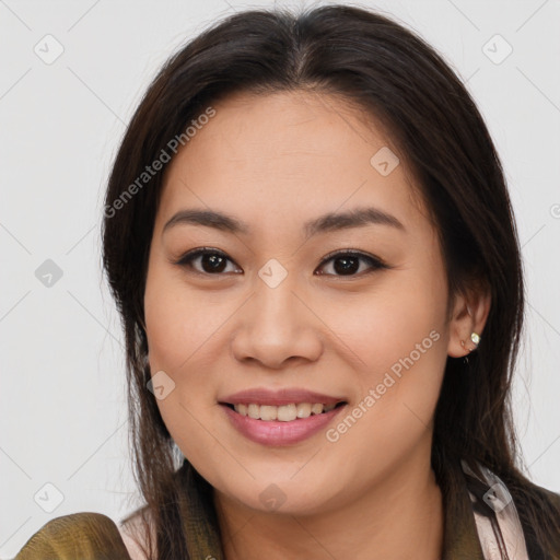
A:
{"label": "plain light grey backdrop behind the woman", "polygon": [[[0,0],[1,558],[52,517],[96,511],[118,520],[137,504],[122,339],[101,276],[103,190],[160,65],[217,18],[249,5],[271,3]],[[560,1],[362,5],[444,55],[497,142],[528,282],[518,433],[533,480],[560,492]],[[51,65],[34,52],[56,52],[47,34],[63,47]],[[495,34],[513,48],[500,63],[508,45],[488,43]],[[35,276],[46,259],[63,273],[50,288]],[[58,493],[46,483],[63,495],[50,513]]]}

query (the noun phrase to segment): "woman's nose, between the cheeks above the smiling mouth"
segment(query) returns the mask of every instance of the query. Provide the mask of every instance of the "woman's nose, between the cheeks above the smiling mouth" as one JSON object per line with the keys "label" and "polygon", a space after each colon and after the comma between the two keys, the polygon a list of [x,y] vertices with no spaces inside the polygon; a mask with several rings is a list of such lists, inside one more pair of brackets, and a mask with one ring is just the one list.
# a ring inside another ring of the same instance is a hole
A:
{"label": "woman's nose, between the cheeks above the smiling mouth", "polygon": [[241,362],[280,370],[322,354],[322,323],[289,278],[275,288],[257,279],[253,295],[236,315],[231,346]]}

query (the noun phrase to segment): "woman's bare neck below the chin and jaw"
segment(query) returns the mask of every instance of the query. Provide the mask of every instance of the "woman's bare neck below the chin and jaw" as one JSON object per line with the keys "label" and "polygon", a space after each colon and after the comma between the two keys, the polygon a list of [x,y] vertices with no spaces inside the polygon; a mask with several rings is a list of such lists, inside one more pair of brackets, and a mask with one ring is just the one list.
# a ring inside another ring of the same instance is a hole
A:
{"label": "woman's bare neck below the chin and jaw", "polygon": [[359,499],[313,515],[256,511],[218,491],[214,503],[228,560],[439,560],[443,553],[442,494],[429,462],[423,469],[407,462]]}

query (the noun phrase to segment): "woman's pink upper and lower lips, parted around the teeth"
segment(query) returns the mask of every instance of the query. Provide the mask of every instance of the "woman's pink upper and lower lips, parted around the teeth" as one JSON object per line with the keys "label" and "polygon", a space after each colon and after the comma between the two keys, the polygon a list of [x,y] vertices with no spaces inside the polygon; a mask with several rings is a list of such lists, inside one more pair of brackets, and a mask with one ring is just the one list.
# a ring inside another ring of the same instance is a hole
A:
{"label": "woman's pink upper and lower lips, parted around the teeth", "polygon": [[325,428],[338,413],[346,408],[340,406],[328,412],[312,415],[308,418],[298,418],[290,422],[278,420],[257,420],[248,416],[242,416],[226,406],[230,405],[258,405],[281,406],[291,402],[323,402],[332,405],[343,401],[343,397],[331,397],[303,389],[270,390],[257,388],[243,390],[220,399],[224,413],[233,427],[248,440],[262,445],[285,446],[299,443],[311,438]]}

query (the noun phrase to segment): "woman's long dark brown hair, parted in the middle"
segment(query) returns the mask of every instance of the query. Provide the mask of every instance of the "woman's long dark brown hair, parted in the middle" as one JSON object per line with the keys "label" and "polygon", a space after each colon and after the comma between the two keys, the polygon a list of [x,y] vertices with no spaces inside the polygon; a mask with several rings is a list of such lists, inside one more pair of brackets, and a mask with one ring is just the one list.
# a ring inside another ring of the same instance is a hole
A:
{"label": "woman's long dark brown hair, parted in the middle", "polygon": [[138,178],[211,103],[233,92],[296,90],[340,95],[387,127],[439,232],[450,298],[472,285],[489,290],[491,310],[477,352],[468,363],[447,359],[432,466],[439,480],[448,462],[460,458],[476,472],[477,462],[490,468],[509,486],[524,525],[551,550],[560,512],[517,466],[510,385],[524,283],[504,174],[488,129],[460,80],[421,38],[370,10],[331,4],[298,15],[245,11],[201,33],[155,77],[114,162],[103,262],[126,337],[135,476],[153,520],[158,558],[188,555],[174,442],[147,389],[143,294],[163,172],[145,185]]}

